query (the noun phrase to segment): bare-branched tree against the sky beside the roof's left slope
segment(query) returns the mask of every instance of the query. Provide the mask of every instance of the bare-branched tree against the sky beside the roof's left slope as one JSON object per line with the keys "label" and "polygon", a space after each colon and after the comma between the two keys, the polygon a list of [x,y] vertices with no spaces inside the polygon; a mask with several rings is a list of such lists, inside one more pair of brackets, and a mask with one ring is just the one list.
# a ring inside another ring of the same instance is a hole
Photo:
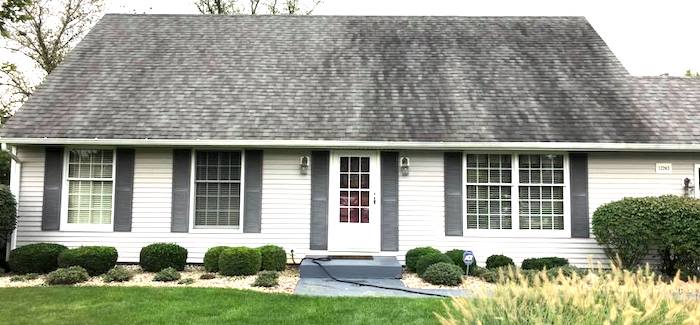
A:
{"label": "bare-branched tree against the sky beside the roof's left slope", "polygon": [[[97,22],[102,7],[102,0],[31,1],[19,9],[24,19],[4,25],[6,47],[29,58],[43,80]],[[17,64],[0,64],[2,121],[27,100],[34,87]]]}

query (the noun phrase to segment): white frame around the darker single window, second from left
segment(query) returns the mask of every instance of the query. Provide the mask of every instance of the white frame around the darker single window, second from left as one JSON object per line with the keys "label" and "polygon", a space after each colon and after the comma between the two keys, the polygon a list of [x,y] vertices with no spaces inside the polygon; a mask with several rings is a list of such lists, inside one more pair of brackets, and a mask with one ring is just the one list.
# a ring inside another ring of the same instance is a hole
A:
{"label": "white frame around the darker single window, second from left", "polygon": [[[238,151],[241,153],[241,186],[239,194],[240,196],[240,217],[238,220],[238,226],[195,226],[194,225],[194,213],[196,210],[195,204],[197,195],[196,190],[196,177],[197,177],[197,152],[198,151]],[[244,202],[245,202],[245,150],[240,148],[202,148],[202,149],[192,149],[191,154],[191,165],[190,165],[190,216],[189,216],[189,232],[190,233],[202,233],[202,234],[240,234],[243,233],[243,218],[244,218]]]}

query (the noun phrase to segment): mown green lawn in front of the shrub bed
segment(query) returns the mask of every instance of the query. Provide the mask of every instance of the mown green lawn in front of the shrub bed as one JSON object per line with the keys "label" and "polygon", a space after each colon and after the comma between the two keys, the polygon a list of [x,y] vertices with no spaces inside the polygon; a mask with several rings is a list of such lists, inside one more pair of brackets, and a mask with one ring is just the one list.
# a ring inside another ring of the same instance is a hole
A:
{"label": "mown green lawn in front of the shrub bed", "polygon": [[6,324],[435,324],[434,298],[317,298],[233,289],[0,289]]}

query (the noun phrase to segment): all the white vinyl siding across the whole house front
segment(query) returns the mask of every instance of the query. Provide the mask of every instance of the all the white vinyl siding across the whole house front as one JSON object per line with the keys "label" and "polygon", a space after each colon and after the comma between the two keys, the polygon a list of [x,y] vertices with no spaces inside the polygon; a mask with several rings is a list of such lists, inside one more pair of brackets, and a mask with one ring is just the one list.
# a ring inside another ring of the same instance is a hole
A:
{"label": "all the white vinyl siding across the whole house front", "polygon": [[[263,162],[261,233],[172,233],[172,150],[137,148],[134,170],[131,232],[41,231],[44,149],[20,147],[22,159],[17,245],[53,242],[77,247],[109,245],[119,251],[119,262],[137,262],[139,251],[154,242],[174,242],[187,248],[188,262],[200,263],[206,250],[217,245],[258,247],[280,245],[294,250],[297,262],[309,250],[310,175],[300,175],[299,158],[306,150],[265,150]],[[474,251],[477,263],[492,254],[505,254],[516,263],[529,257],[561,256],[577,266],[607,263],[593,238],[548,235],[514,237],[501,231],[488,236],[445,236],[444,162],[439,151],[403,151],[411,159],[408,176],[399,176],[399,252],[434,246],[443,251]],[[673,164],[673,173],[656,174],[655,163]],[[590,213],[606,202],[625,196],[683,194],[683,179],[693,177],[700,154],[591,153],[589,154]],[[313,168],[313,167],[311,167]],[[517,230],[514,230],[517,231]],[[493,232],[493,233],[491,233]],[[529,231],[528,231],[529,232]],[[322,254],[323,252],[313,252]],[[291,262],[291,261],[290,261]]]}

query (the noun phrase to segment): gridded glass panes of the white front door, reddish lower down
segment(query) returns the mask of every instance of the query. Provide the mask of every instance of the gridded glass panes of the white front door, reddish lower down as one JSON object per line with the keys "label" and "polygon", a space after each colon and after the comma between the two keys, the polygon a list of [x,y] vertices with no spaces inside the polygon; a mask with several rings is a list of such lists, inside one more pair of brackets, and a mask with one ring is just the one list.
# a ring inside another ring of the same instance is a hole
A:
{"label": "gridded glass panes of the white front door, reddish lower down", "polygon": [[342,223],[369,223],[369,157],[340,157],[340,214]]}

